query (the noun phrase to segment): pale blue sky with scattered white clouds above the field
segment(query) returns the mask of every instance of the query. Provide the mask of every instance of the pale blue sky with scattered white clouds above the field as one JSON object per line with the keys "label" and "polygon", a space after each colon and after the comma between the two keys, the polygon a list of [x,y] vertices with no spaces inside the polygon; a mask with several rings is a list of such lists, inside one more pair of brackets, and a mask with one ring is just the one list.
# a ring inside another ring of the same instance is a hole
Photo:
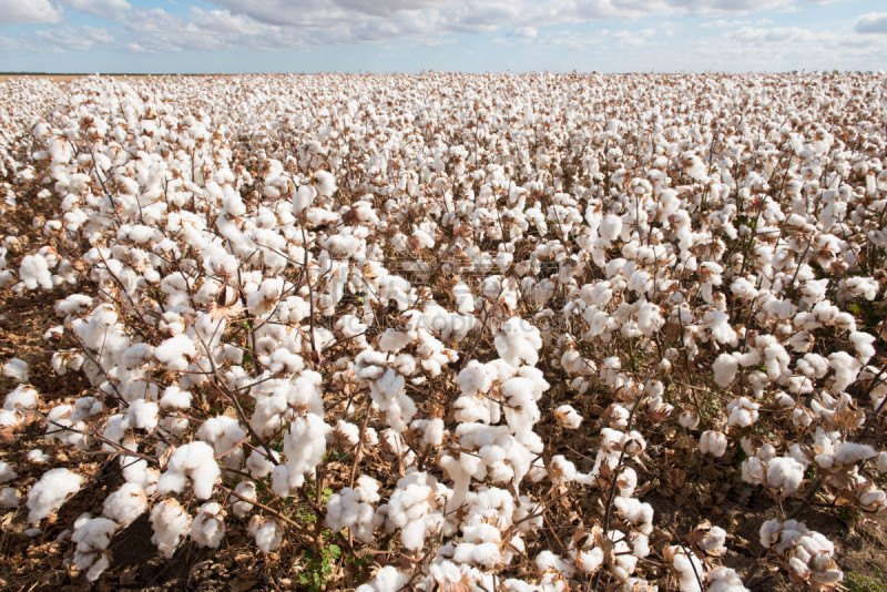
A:
{"label": "pale blue sky with scattered white clouds above the field", "polygon": [[887,70],[885,0],[0,0],[7,72]]}

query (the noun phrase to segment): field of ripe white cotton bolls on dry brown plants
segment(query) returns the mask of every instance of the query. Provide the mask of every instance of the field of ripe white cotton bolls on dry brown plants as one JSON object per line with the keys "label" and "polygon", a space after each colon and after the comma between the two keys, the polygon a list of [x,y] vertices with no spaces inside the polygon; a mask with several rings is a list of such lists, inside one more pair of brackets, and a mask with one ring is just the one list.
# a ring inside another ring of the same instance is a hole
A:
{"label": "field of ripe white cotton bolls on dry brown plants", "polygon": [[43,585],[870,573],[884,75],[11,80],[0,118],[3,544]]}

